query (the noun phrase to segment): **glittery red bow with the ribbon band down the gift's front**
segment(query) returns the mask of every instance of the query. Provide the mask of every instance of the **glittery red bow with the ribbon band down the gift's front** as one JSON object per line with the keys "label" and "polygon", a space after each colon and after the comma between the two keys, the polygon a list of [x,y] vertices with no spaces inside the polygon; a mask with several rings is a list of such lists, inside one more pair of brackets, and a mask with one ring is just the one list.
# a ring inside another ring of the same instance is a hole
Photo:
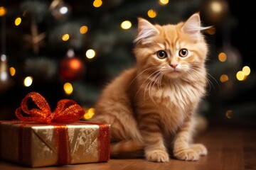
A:
{"label": "glittery red bow with the ribbon band down the gift's front", "polygon": [[[38,108],[28,109],[28,99],[38,106]],[[26,113],[27,116],[22,114]],[[58,165],[70,164],[70,144],[68,140],[68,130],[65,124],[75,123],[80,120],[85,111],[75,101],[63,99],[58,101],[55,111],[50,111],[50,106],[41,94],[31,92],[21,101],[21,107],[16,109],[16,116],[24,122],[47,123],[54,125],[55,142],[58,147]],[[56,124],[63,123],[63,124]],[[22,128],[19,135],[22,136]],[[22,140],[19,139],[19,141]],[[22,155],[22,152],[19,152]]]}

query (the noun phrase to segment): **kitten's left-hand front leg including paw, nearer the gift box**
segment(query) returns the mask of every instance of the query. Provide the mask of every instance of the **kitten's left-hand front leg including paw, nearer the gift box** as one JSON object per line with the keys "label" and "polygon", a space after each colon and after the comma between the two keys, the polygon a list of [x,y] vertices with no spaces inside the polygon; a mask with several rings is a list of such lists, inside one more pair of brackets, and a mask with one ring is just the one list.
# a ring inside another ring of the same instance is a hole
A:
{"label": "kitten's left-hand front leg including paw, nearer the gift box", "polygon": [[154,113],[142,115],[139,129],[144,139],[144,154],[150,162],[169,162],[169,154],[164,145],[159,119],[155,118]]}

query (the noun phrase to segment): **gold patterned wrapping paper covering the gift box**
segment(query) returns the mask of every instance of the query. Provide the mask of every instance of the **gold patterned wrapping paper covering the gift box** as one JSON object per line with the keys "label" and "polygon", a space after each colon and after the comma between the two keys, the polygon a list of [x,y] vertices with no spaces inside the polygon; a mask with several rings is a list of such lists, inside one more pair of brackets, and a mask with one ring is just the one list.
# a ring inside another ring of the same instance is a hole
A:
{"label": "gold patterned wrapping paper covering the gift box", "polygon": [[[107,153],[104,154],[107,158],[100,159],[100,148],[102,148],[100,140],[102,139],[99,139],[99,125],[73,123],[66,126],[70,144],[70,164],[108,161],[110,149],[105,149]],[[22,137],[19,137],[21,128]],[[58,165],[58,146],[55,141],[54,128],[53,125],[45,124],[1,123],[1,159],[31,167]],[[110,147],[109,137],[107,141],[105,145]]]}

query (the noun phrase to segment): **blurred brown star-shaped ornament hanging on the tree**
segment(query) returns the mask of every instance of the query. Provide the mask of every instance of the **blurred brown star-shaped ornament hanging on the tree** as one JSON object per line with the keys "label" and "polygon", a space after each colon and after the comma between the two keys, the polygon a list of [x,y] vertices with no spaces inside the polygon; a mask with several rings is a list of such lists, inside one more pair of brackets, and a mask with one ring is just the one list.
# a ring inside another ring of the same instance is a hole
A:
{"label": "blurred brown star-shaped ornament hanging on the tree", "polygon": [[39,48],[43,45],[43,39],[46,38],[46,33],[38,34],[38,28],[35,22],[31,22],[31,35],[24,35],[23,39],[32,47],[33,53],[38,55]]}

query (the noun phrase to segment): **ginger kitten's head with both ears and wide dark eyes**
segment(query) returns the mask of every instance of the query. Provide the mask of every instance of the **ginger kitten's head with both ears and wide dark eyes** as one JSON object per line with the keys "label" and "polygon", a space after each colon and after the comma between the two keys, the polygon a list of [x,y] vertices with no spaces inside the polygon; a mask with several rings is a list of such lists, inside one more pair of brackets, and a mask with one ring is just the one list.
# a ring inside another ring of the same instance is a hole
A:
{"label": "ginger kitten's head with both ears and wide dark eyes", "polygon": [[207,47],[200,33],[200,18],[194,14],[185,23],[153,26],[139,18],[139,34],[134,49],[142,71],[149,78],[176,79],[194,74],[204,66]]}

